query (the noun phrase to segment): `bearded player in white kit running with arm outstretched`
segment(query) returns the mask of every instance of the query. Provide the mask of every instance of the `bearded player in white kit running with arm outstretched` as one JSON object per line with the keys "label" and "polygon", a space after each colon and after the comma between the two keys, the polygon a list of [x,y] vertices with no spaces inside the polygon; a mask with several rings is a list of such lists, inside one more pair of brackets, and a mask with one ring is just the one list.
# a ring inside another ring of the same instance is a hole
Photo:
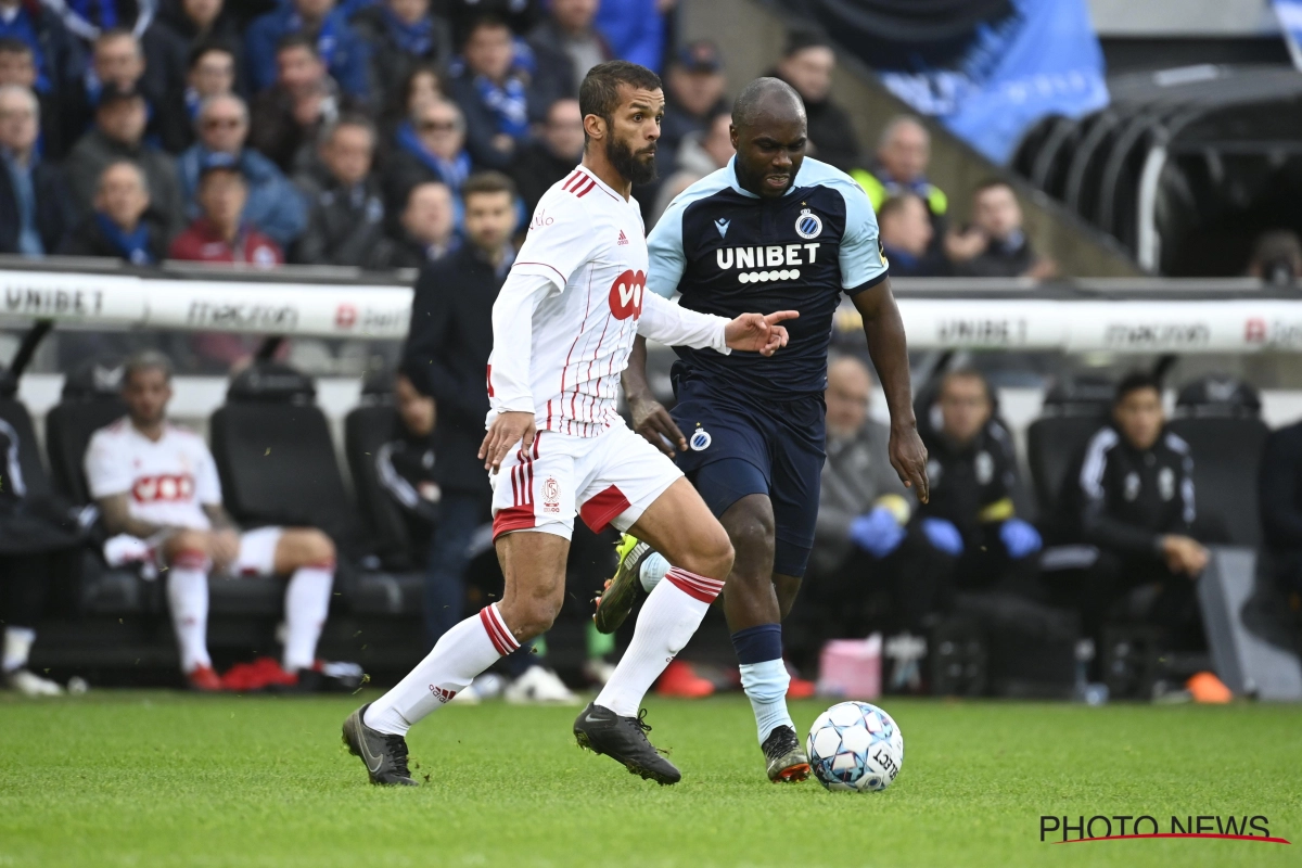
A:
{"label": "bearded player in white kit running with arm outstretched", "polygon": [[493,305],[492,409],[479,457],[492,474],[493,537],[506,590],[344,722],[344,740],[372,783],[414,785],[408,729],[551,627],[565,596],[575,514],[595,531],[637,528],[639,539],[673,552],[665,557],[676,566],[647,597],[633,642],[575,720],[574,735],[643,778],[681,777],[647,740],[638,707],[723,590],[733,549],[673,462],[625,427],[616,413],[620,373],[638,334],[772,354],[786,344],[777,323],[797,314],[727,320],[646,293],[644,230],[629,193],[633,182],[655,177],[660,79],[626,61],[600,64],[583,79],[579,107],[583,161],[538,203]]}

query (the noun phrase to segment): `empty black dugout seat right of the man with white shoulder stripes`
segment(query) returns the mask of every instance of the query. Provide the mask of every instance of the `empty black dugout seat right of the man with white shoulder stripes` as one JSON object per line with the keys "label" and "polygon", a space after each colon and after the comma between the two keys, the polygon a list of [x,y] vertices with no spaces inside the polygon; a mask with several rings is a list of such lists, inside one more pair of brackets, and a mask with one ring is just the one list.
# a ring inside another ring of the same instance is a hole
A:
{"label": "empty black dugout seat right of the man with white shoulder stripes", "polygon": [[[1262,422],[1256,390],[1228,376],[1186,384],[1176,397],[1170,431],[1194,455],[1194,505],[1204,532],[1228,531],[1226,541],[1262,541],[1256,478],[1271,429]],[[1219,534],[1217,534],[1219,535]]]}

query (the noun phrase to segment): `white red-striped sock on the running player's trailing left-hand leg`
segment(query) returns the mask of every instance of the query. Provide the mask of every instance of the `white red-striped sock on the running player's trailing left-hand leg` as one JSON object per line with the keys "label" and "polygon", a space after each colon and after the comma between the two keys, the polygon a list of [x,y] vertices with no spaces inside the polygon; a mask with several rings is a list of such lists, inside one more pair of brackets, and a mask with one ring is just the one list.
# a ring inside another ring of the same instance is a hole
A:
{"label": "white red-striped sock on the running player's trailing left-hand leg", "polygon": [[506,629],[497,604],[486,606],[443,634],[406,678],[371,703],[363,722],[381,733],[406,735],[413,724],[441,708],[516,648],[519,642]]}

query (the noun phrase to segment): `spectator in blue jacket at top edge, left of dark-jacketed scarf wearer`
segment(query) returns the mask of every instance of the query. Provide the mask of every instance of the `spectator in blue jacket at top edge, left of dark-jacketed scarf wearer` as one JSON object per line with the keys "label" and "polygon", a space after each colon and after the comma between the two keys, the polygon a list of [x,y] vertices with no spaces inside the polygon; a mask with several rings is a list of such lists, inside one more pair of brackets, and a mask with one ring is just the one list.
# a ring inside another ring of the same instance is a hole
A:
{"label": "spectator in blue jacket at top edge, left of dark-jacketed scarf wearer", "polygon": [[254,94],[276,83],[276,46],[298,31],[316,40],[316,51],[344,92],[371,99],[370,51],[335,0],[290,0],[249,25],[245,55]]}

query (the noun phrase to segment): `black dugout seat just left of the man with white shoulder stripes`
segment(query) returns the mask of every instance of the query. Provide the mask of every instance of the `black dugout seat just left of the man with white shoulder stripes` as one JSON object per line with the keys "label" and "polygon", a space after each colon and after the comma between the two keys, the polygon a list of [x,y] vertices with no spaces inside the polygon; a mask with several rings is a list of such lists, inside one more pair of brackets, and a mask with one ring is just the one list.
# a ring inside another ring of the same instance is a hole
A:
{"label": "black dugout seat just left of the man with white shoulder stripes", "polygon": [[1112,393],[1111,383],[1082,377],[1056,383],[1044,394],[1040,418],[1026,429],[1026,463],[1042,518],[1056,515],[1072,463],[1108,422]]}

